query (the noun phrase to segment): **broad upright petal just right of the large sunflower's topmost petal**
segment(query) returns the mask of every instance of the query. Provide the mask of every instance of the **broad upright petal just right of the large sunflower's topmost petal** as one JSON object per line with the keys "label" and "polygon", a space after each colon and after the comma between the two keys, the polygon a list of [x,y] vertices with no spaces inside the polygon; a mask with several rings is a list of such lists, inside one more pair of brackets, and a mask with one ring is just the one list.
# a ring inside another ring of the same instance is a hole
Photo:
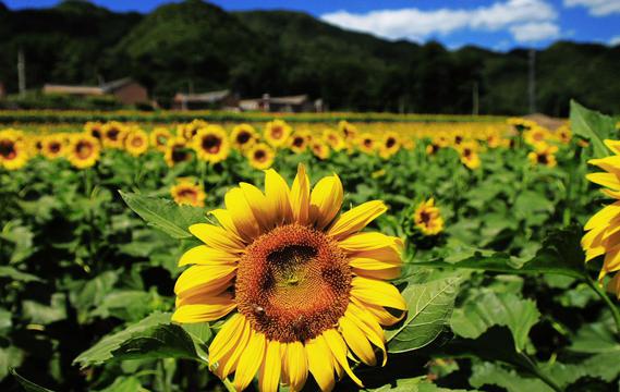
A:
{"label": "broad upright petal just right of the large sunflower's topmost petal", "polygon": [[309,220],[317,229],[324,229],[331,223],[340,211],[344,191],[338,175],[321,179],[312,191]]}

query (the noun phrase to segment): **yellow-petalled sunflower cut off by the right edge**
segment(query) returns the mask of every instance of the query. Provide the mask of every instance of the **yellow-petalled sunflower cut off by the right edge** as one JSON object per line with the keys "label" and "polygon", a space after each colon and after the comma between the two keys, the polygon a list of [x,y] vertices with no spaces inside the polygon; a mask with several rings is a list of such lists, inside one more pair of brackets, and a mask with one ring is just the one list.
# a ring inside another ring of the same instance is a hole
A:
{"label": "yellow-petalled sunflower cut off by the right edge", "polygon": [[603,268],[598,274],[598,281],[603,283],[605,277],[613,273],[608,287],[620,297],[620,142],[605,140],[607,147],[615,155],[601,159],[592,159],[588,163],[594,164],[606,173],[587,174],[591,182],[603,185],[603,193],[616,201],[596,212],[585,224],[587,232],[581,245],[585,250],[585,260],[589,261],[597,256],[605,255]]}

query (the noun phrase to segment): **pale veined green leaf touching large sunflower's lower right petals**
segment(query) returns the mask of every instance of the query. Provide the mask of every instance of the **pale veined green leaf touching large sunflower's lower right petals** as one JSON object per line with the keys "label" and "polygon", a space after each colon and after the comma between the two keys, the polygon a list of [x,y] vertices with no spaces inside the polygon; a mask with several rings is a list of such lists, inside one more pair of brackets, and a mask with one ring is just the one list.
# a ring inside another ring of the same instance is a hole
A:
{"label": "pale veined green leaf touching large sunflower's lower right petals", "polygon": [[386,331],[390,353],[421,348],[433,342],[449,322],[460,279],[443,278],[425,283],[410,283],[402,296],[408,315],[396,329]]}

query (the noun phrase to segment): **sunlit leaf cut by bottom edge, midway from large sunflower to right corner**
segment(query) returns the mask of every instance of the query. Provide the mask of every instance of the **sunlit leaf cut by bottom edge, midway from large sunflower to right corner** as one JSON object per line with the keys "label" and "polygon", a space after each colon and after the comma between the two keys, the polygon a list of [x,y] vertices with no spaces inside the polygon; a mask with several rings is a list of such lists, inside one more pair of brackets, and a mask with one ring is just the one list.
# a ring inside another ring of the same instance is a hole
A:
{"label": "sunlit leaf cut by bottom edge, midway from large sunflower to right corner", "polygon": [[522,377],[514,370],[507,370],[491,363],[474,364],[470,383],[474,388],[497,385],[504,388],[508,392],[554,392],[549,385],[538,379]]}

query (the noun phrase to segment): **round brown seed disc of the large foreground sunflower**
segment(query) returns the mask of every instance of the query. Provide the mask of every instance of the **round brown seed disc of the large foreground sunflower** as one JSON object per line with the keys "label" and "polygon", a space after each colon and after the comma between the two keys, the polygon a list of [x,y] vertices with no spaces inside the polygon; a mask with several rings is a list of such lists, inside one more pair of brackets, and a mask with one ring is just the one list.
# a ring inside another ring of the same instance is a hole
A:
{"label": "round brown seed disc of the large foreground sunflower", "polygon": [[333,328],[349,305],[347,255],[323,232],[289,224],[256,238],[239,262],[239,311],[267,339],[305,341]]}

